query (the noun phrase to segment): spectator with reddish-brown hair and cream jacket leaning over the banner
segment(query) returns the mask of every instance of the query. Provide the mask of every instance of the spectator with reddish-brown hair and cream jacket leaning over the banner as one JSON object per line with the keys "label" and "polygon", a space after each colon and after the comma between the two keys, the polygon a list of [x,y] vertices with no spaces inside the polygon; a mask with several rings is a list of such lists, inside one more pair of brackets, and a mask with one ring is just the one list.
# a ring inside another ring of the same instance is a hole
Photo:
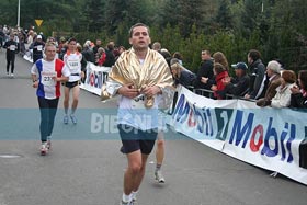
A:
{"label": "spectator with reddish-brown hair and cream jacket leaning over the banner", "polygon": [[272,107],[282,109],[291,104],[291,89],[295,86],[296,75],[293,70],[284,70],[281,78],[282,84],[276,88],[276,94],[269,104]]}

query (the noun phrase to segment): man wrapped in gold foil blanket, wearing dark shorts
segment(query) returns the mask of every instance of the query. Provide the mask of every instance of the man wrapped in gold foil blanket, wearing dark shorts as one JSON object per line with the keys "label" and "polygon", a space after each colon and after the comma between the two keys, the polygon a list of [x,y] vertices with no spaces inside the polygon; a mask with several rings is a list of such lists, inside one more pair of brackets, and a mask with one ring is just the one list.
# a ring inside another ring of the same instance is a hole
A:
{"label": "man wrapped in gold foil blanket, wearing dark shorts", "polygon": [[149,48],[149,27],[137,23],[129,34],[132,48],[121,54],[106,84],[110,95],[122,95],[117,128],[127,156],[122,205],[136,204],[147,159],[158,135],[158,104],[164,90],[173,84],[163,56]]}

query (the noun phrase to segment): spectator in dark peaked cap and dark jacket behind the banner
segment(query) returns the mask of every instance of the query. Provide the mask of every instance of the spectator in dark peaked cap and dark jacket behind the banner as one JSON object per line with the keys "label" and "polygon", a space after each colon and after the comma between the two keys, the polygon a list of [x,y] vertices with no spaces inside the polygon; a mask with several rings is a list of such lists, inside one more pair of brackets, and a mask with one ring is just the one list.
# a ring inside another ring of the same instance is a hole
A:
{"label": "spectator in dark peaked cap and dark jacket behind the banner", "polygon": [[248,66],[246,62],[238,62],[231,65],[235,68],[235,78],[225,78],[225,92],[235,96],[243,96],[249,88],[250,77],[247,75]]}

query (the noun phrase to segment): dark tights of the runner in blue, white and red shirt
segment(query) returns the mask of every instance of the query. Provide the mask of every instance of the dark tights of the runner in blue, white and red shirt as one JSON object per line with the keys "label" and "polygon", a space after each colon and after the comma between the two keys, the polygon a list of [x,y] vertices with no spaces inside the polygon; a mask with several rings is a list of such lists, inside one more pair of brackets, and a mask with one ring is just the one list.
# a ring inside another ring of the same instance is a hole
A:
{"label": "dark tights of the runner in blue, white and red shirt", "polygon": [[47,137],[53,133],[58,100],[58,98],[49,100],[38,96],[38,105],[41,111],[39,132],[42,141],[47,141]]}

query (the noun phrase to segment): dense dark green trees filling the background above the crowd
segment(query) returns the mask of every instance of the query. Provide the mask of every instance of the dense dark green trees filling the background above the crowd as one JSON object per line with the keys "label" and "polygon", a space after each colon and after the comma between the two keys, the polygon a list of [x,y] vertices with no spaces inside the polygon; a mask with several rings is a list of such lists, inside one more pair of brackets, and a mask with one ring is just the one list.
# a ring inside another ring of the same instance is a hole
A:
{"label": "dense dark green trees filling the background above the crowd", "polygon": [[[20,0],[21,26],[44,20],[37,31],[68,32],[86,39],[115,41],[128,47],[128,29],[144,22],[171,53],[183,54],[195,70],[201,49],[220,50],[230,64],[246,61],[251,48],[263,60],[307,69],[307,3],[305,0]],[[16,24],[18,0],[0,1],[0,24]]]}

